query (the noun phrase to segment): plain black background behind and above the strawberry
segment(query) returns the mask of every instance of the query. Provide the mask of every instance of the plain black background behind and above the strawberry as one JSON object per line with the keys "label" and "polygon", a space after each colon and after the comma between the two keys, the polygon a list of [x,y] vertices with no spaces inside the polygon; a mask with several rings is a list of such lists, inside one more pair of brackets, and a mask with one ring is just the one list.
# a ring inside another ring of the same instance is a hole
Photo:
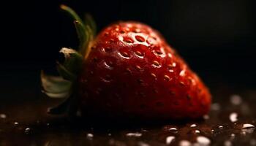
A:
{"label": "plain black background behind and above the strawberry", "polygon": [[[52,71],[61,47],[77,47],[67,4],[89,12],[98,30],[138,20],[159,30],[207,85],[256,87],[255,4],[249,0],[10,1],[2,5],[0,98],[39,94],[39,71]],[[21,88],[21,89],[20,89]]]}

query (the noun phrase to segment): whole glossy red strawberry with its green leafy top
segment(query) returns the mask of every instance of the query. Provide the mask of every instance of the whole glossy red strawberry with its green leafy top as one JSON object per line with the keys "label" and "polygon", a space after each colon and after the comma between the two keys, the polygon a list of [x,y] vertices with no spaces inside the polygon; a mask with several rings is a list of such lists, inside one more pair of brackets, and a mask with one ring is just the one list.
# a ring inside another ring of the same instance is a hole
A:
{"label": "whole glossy red strawberry with its green leafy top", "polygon": [[[90,17],[83,23],[72,9],[62,9],[75,19],[81,45],[78,52],[61,50],[66,61],[58,69],[67,84],[62,80],[61,85],[69,90],[56,92],[67,101],[50,112],[71,109],[75,102],[85,117],[180,119],[208,113],[208,88],[158,31],[143,23],[118,22],[94,39]],[[42,75],[49,84],[47,78],[54,77]],[[53,91],[45,88],[48,96]]]}

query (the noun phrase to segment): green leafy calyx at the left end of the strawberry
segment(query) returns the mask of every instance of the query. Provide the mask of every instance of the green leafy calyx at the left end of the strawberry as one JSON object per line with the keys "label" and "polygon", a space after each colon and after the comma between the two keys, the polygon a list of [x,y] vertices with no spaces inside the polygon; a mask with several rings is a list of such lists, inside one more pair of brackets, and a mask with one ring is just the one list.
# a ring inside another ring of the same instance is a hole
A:
{"label": "green leafy calyx at the left end of the strawberry", "polygon": [[87,56],[91,51],[91,42],[96,34],[96,25],[90,15],[86,15],[82,20],[78,14],[65,5],[61,5],[61,9],[67,12],[74,20],[75,28],[80,40],[77,50],[63,47],[59,52],[64,54],[64,63],[57,62],[58,77],[50,76],[41,72],[41,82],[43,92],[50,98],[66,99],[57,107],[50,108],[48,112],[51,114],[63,114],[74,111],[74,102],[77,99],[78,75]]}

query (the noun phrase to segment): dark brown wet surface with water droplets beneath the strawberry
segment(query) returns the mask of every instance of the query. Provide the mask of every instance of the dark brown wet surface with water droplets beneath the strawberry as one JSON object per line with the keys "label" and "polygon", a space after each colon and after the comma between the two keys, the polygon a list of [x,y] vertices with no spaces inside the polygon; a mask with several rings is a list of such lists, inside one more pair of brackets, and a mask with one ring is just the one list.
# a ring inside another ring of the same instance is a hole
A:
{"label": "dark brown wet surface with water droplets beneath the strawberry", "polygon": [[104,120],[91,126],[48,115],[47,108],[60,101],[26,93],[31,98],[1,101],[0,145],[256,145],[256,91],[222,87],[212,93],[211,112],[201,120],[140,126]]}

